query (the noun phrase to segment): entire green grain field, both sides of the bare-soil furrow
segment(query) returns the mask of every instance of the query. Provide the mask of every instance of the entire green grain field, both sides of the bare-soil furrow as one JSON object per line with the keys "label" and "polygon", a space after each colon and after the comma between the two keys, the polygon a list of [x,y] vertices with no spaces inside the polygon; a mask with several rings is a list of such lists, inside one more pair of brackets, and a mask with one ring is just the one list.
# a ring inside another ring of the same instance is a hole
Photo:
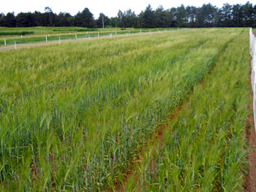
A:
{"label": "entire green grain field, both sides of the bare-soil furrow", "polygon": [[[248,32],[188,29],[0,53],[1,190],[239,191]],[[148,142],[163,125],[161,145]]]}

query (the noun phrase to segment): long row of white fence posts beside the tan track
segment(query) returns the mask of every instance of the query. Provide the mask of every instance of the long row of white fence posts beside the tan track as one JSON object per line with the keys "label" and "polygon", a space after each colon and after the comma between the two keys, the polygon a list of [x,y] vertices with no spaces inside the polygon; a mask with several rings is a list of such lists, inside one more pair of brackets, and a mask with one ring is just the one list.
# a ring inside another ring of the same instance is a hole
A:
{"label": "long row of white fence posts beside the tan track", "polygon": [[[184,29],[186,29],[186,28],[181,28],[181,29],[170,29],[170,31],[180,31],[180,30],[184,30]],[[130,34],[151,34],[151,33],[157,33],[157,32],[167,32],[167,30],[163,30],[163,31],[159,31],[158,29],[157,29],[157,31],[151,31],[151,30],[141,30],[140,29],[140,31],[127,31],[127,33],[125,33],[124,31],[120,31],[120,33],[118,33],[117,31],[116,31],[116,36],[117,35],[125,35],[125,34],[127,34],[127,36],[129,36]],[[24,45],[24,44],[36,44],[36,43],[43,43],[43,42],[45,42],[45,43],[47,43],[47,42],[61,42],[61,40],[72,40],[72,39],[74,39],[74,40],[76,40],[76,39],[91,39],[91,38],[94,38],[94,37],[112,37],[113,36],[113,33],[104,33],[103,32],[103,34],[99,34],[99,32],[98,32],[98,34],[95,34],[95,35],[90,35],[90,34],[86,34],[86,35],[84,35],[84,36],[80,36],[80,37],[78,37],[78,35],[77,34],[75,34],[75,36],[74,37],[56,37],[56,38],[53,38],[53,39],[49,39],[48,37],[45,37],[45,40],[39,40],[39,41],[17,41],[17,40],[15,40],[15,41],[12,41],[12,42],[7,42],[6,41],[6,39],[4,39],[4,43],[3,44],[0,44],[0,47],[10,47],[10,46],[13,46],[13,45],[15,45],[15,49],[16,49],[16,46],[17,45]],[[0,50],[1,50],[1,48],[0,48]],[[4,50],[4,48],[3,48],[3,50]]]}

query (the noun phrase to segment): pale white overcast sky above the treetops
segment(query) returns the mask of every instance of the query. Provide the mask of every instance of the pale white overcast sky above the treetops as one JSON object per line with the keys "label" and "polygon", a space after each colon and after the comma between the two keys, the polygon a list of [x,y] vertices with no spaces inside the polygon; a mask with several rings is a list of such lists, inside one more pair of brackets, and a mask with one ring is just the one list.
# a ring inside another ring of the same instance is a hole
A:
{"label": "pale white overcast sky above the treetops", "polygon": [[[148,4],[151,4],[153,9],[162,5],[165,9],[171,7],[178,7],[181,4],[193,5],[200,7],[203,4],[209,2],[217,7],[222,7],[223,4],[245,4],[248,0],[1,0],[0,12],[15,12],[17,15],[19,12],[44,12],[45,7],[50,7],[53,12],[59,14],[59,12],[69,12],[71,15],[75,15],[78,11],[83,11],[85,7],[88,7],[94,14],[94,18],[98,18],[99,13],[103,12],[108,17],[115,17],[118,9],[121,11],[132,9],[136,14],[139,14],[141,10],[145,9]],[[253,2],[253,1],[251,1]]]}

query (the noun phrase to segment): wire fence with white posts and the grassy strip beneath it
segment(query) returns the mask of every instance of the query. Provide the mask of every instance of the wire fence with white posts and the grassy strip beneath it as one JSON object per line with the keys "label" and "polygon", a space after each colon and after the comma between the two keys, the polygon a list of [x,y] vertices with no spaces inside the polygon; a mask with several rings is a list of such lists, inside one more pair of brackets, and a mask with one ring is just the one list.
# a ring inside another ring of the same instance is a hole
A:
{"label": "wire fence with white posts and the grassy strip beneath it", "polygon": [[148,30],[131,30],[131,31],[113,31],[111,33],[107,32],[97,32],[94,34],[69,34],[61,37],[54,37],[54,36],[45,36],[45,37],[39,37],[37,40],[31,40],[33,38],[23,38],[21,37],[21,40],[12,40],[12,39],[4,39],[0,42],[0,50],[10,50],[15,49],[17,50],[18,45],[25,45],[25,44],[39,44],[39,43],[49,43],[49,42],[55,42],[53,44],[56,44],[59,42],[59,44],[62,41],[67,40],[91,40],[96,38],[102,38],[102,37],[116,37],[116,36],[129,36],[130,34],[155,34],[160,32],[167,32],[167,31],[179,31],[184,30],[186,28],[179,28],[179,29],[173,29],[173,28],[164,28],[162,30],[159,29],[148,29]]}

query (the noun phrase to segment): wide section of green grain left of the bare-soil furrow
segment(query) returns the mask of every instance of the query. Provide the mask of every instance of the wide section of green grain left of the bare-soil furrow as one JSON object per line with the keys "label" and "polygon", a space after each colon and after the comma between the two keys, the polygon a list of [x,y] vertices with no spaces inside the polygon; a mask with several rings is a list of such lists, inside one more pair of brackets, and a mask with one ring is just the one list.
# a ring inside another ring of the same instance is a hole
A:
{"label": "wide section of green grain left of the bare-soil furrow", "polygon": [[2,191],[106,191],[241,28],[0,53]]}

